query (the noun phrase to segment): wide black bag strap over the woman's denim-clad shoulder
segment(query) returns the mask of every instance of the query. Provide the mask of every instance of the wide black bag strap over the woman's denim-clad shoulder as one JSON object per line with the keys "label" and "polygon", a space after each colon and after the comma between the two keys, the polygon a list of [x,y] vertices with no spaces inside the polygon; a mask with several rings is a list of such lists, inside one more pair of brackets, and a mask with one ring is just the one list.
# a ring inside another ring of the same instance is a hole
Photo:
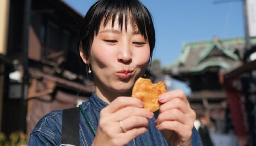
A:
{"label": "wide black bag strap over the woman's denim-clad shoulder", "polygon": [[79,145],[79,107],[63,110],[61,145]]}

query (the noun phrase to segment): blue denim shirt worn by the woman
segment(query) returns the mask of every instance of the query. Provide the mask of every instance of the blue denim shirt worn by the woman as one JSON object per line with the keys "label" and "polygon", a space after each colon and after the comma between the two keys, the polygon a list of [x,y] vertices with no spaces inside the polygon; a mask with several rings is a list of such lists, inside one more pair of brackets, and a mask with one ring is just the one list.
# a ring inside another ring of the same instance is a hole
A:
{"label": "blue denim shirt worn by the woman", "polygon": [[[102,101],[92,94],[88,101],[82,103],[82,109],[92,122],[94,128],[97,130],[98,121],[100,119],[100,111],[108,106],[108,103]],[[61,121],[62,110],[52,111],[45,115],[36,124],[34,130],[31,132],[28,145],[61,145]],[[135,139],[131,140],[127,146],[164,146],[168,145],[160,131],[156,129],[154,124],[155,118],[150,119],[148,131]],[[89,125],[86,123],[84,116],[80,112],[80,145],[92,145],[94,135]],[[200,146],[201,138],[195,128],[192,132],[192,146]]]}

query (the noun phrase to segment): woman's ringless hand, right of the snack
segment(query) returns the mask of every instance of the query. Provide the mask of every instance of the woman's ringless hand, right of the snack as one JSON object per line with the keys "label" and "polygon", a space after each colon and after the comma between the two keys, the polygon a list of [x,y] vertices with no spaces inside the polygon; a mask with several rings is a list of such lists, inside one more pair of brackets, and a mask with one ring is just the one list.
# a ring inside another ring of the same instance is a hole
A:
{"label": "woman's ringless hand, right of the snack", "polygon": [[168,143],[172,146],[191,145],[192,129],[196,118],[195,111],[189,106],[182,90],[173,90],[159,98],[162,103],[155,124],[162,130]]}

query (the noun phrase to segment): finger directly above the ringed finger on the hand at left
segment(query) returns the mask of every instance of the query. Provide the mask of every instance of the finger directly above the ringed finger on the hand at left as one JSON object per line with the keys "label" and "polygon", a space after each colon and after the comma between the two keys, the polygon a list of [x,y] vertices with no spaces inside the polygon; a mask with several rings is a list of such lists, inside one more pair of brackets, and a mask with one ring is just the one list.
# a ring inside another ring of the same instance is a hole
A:
{"label": "finger directly above the ringed finger on the hand at left", "polygon": [[143,108],[138,107],[124,107],[123,109],[118,110],[114,114],[112,114],[115,118],[115,121],[124,120],[126,118],[129,118],[130,116],[142,116],[144,118],[153,118],[154,113]]}

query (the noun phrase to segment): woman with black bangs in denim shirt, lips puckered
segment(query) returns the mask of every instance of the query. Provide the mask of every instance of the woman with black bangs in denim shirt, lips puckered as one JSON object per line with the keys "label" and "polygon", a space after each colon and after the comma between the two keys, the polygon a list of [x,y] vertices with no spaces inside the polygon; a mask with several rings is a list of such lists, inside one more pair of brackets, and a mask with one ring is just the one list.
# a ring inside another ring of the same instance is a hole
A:
{"label": "woman with black bangs in denim shirt, lips puckered", "polygon": [[[81,24],[79,51],[94,77],[95,92],[82,103],[96,135],[80,113],[80,145],[201,145],[193,128],[195,112],[183,91],[162,97],[158,118],[131,98],[143,77],[155,45],[150,12],[137,0],[100,0]],[[91,70],[92,69],[92,70]],[[29,145],[61,144],[62,111],[44,116]]]}

